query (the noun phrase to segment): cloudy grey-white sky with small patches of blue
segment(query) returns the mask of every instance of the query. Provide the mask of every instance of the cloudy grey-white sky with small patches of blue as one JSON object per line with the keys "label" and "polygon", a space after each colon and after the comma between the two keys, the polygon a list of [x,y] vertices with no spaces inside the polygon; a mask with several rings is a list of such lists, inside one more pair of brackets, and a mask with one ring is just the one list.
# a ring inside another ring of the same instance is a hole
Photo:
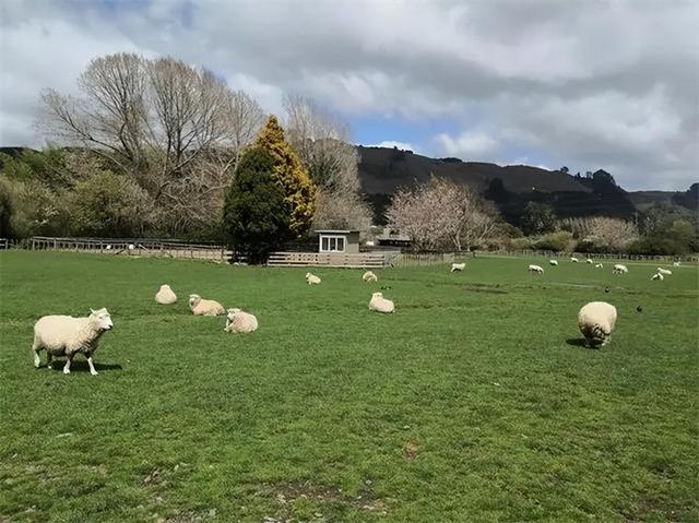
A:
{"label": "cloudy grey-white sky with small patches of blue", "polygon": [[120,51],[203,66],[281,114],[300,94],[355,143],[699,181],[699,1],[0,2],[0,145],[40,146],[39,93]]}

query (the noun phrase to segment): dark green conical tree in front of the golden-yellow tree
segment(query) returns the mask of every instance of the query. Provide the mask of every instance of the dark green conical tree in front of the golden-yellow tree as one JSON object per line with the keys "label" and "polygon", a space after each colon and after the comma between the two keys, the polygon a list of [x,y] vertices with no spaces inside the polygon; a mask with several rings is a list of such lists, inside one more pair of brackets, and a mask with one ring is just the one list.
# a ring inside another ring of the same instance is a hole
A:
{"label": "dark green conical tree in front of the golden-yellow tree", "polygon": [[272,155],[261,146],[248,148],[226,193],[223,227],[228,245],[247,253],[250,263],[263,263],[294,238],[292,212]]}

